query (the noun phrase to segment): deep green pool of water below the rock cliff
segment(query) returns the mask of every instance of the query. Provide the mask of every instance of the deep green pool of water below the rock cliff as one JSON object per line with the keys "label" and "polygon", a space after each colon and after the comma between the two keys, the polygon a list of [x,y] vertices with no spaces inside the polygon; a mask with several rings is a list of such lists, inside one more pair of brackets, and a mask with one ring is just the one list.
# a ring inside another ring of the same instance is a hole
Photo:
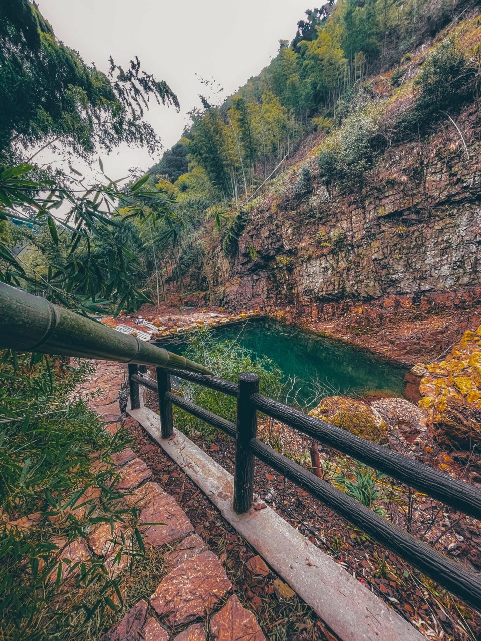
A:
{"label": "deep green pool of water below the rock cliff", "polygon": [[[319,401],[319,387],[321,396],[404,395],[407,367],[291,325],[255,319],[215,328],[213,335],[219,341],[236,340],[252,354],[270,358],[286,379],[295,379],[298,400],[308,406],[315,397]],[[176,353],[185,349],[185,344],[162,345]]]}

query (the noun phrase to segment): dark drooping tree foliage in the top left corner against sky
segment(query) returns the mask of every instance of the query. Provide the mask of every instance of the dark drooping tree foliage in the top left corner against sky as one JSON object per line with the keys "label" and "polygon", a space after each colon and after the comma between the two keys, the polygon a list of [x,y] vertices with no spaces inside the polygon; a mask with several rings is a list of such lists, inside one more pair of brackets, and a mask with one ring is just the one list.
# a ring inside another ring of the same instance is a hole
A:
{"label": "dark drooping tree foliage in the top left corner against sky", "polygon": [[0,8],[0,159],[19,155],[50,138],[89,159],[99,145],[107,151],[121,142],[158,142],[142,119],[149,98],[159,104],[178,100],[164,81],[110,58],[106,76],[55,38],[53,29],[29,0]]}

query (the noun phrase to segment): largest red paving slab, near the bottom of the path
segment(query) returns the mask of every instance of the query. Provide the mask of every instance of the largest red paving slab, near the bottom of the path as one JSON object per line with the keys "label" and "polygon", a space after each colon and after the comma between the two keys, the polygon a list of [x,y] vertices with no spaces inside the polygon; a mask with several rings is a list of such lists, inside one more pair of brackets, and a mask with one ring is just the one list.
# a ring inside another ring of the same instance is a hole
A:
{"label": "largest red paving slab, near the bottom of the path", "polygon": [[205,617],[230,590],[232,583],[219,558],[203,552],[167,574],[150,602],[174,628]]}

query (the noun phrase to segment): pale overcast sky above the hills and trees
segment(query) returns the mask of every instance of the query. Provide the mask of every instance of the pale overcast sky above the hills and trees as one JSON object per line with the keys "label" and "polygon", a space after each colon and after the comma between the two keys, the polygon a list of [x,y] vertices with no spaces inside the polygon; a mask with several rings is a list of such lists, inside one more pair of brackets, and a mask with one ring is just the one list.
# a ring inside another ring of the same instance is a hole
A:
{"label": "pale overcast sky above the hills and trees", "polygon": [[[108,57],[127,65],[139,56],[143,69],[165,79],[177,94],[180,113],[152,104],[147,119],[168,149],[181,137],[187,112],[199,106],[200,78],[212,76],[232,94],[265,67],[280,39],[291,40],[309,0],[37,0],[55,35],[86,63],[106,71]],[[196,73],[198,76],[196,76]],[[204,90],[205,91],[205,90]],[[122,146],[102,154],[111,178],[131,167],[148,169],[146,149]],[[41,156],[37,157],[37,162]],[[51,156],[50,156],[51,158]],[[44,156],[43,160],[50,160]]]}

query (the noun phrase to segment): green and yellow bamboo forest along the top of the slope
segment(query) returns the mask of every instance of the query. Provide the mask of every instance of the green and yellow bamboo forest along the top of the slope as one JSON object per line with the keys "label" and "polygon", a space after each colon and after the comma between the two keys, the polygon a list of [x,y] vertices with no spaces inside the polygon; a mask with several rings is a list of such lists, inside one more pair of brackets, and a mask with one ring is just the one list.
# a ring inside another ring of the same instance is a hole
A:
{"label": "green and yellow bamboo forest along the top of the slope", "polygon": [[205,83],[204,108],[149,171],[182,194],[203,194],[205,205],[244,199],[309,135],[342,122],[360,90],[373,97],[376,74],[394,69],[392,86],[400,86],[412,52],[475,4],[330,0],[307,10],[291,44],[281,40],[269,66],[223,104],[215,83]]}

